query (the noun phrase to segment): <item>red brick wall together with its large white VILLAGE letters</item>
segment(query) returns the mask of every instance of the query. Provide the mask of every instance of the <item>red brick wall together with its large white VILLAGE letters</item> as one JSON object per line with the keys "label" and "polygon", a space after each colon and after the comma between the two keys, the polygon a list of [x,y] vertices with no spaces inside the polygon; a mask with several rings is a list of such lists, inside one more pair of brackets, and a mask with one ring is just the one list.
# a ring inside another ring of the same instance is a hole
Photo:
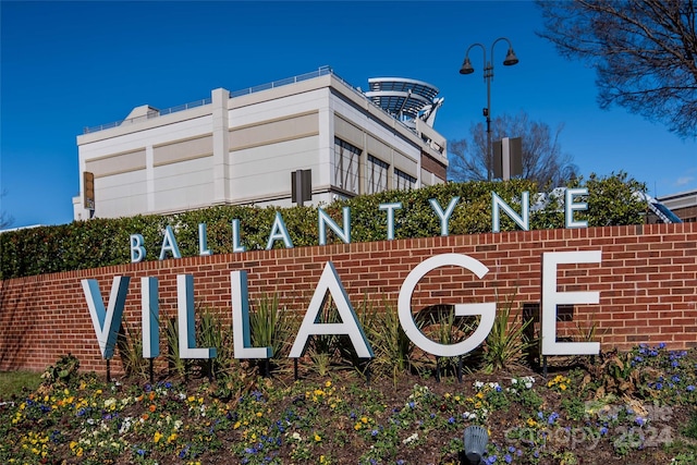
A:
{"label": "red brick wall together with its large white VILLAGE letters", "polygon": [[[0,285],[0,369],[42,370],[72,353],[83,369],[103,371],[119,313],[143,325],[144,356],[157,356],[163,329],[143,316],[146,307],[157,307],[160,319],[179,318],[180,333],[187,335],[181,344],[186,357],[215,355],[216,347],[192,342],[193,309],[205,306],[234,322],[235,356],[262,358],[269,351],[250,346],[246,313],[249,302],[271,294],[305,317],[294,341],[295,356],[308,336],[322,331],[348,334],[359,355],[369,356],[370,341],[352,310],[384,303],[399,311],[405,331],[425,351],[465,353],[484,341],[494,308],[511,297],[517,315],[524,308],[539,309],[546,354],[595,353],[640,342],[686,348],[697,345],[697,224],[239,252],[28,277]],[[311,316],[327,295],[338,304],[341,327],[314,323]],[[460,345],[437,344],[413,326],[412,313],[441,304],[452,304],[463,315],[480,315],[475,332]],[[557,309],[564,305],[571,310],[559,321]],[[578,328],[591,326],[597,327],[595,341],[568,342]]]}

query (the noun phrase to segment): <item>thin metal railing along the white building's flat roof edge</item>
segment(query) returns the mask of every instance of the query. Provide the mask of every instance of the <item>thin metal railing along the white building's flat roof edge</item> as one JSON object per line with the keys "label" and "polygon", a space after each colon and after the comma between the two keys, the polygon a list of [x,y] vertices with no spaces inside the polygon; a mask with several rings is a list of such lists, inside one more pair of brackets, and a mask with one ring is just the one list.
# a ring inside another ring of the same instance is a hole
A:
{"label": "thin metal railing along the white building's flat roof edge", "polygon": [[[268,89],[272,89],[272,88],[277,88],[277,87],[282,87],[282,86],[286,86],[289,84],[295,84],[295,83],[299,83],[302,81],[307,81],[307,79],[313,79],[315,77],[325,76],[327,74],[331,74],[338,81],[340,81],[343,84],[345,84],[346,87],[348,87],[354,93],[356,93],[357,95],[359,95],[360,97],[363,97],[367,101],[369,101],[374,107],[384,111],[382,108],[380,108],[380,106],[378,106],[372,100],[367,98],[363,94],[363,91],[360,91],[359,89],[355,88],[354,86],[348,84],[345,79],[343,79],[340,75],[334,73],[333,70],[330,66],[320,66],[319,69],[317,69],[317,71],[313,71],[313,72],[309,72],[309,73],[299,74],[297,76],[286,77],[284,79],[274,81],[272,83],[261,84],[261,85],[258,85],[258,86],[247,87],[245,89],[231,91],[230,93],[230,98],[242,97],[242,96],[249,95],[249,94],[255,94],[255,93],[258,93],[258,91],[261,91],[261,90],[268,90]],[[90,134],[90,133],[96,133],[96,132],[99,132],[99,131],[110,130],[112,127],[119,127],[119,126],[122,126],[122,125],[125,125],[125,124],[137,123],[137,122],[140,122],[140,121],[150,120],[152,118],[158,118],[158,117],[163,117],[166,114],[175,113],[178,111],[184,111],[184,110],[188,110],[188,109],[196,108],[196,107],[203,107],[205,105],[209,105],[210,102],[211,102],[210,98],[205,98],[203,100],[196,100],[196,101],[191,102],[191,103],[179,105],[176,107],[166,108],[163,110],[151,110],[151,111],[148,111],[147,114],[143,114],[140,117],[129,118],[126,120],[115,121],[113,123],[100,124],[98,126],[85,127],[84,131],[83,131],[83,134]],[[388,113],[388,114],[390,114],[390,113]],[[406,127],[407,130],[414,132],[414,129],[409,127],[406,124],[404,124],[404,122],[400,121],[396,118],[394,120],[399,124],[401,124],[404,127]]]}

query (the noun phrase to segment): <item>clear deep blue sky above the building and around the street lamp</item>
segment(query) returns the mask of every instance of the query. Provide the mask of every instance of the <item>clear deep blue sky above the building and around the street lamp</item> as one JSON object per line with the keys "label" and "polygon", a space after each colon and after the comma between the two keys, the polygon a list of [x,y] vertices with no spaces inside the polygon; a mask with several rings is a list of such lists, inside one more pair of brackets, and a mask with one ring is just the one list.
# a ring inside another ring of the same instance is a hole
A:
{"label": "clear deep blue sky above the building and around the street lamp", "polygon": [[697,142],[622,108],[600,110],[595,72],[535,35],[528,1],[8,2],[0,3],[0,210],[14,227],[72,221],[75,137],[133,107],[169,108],[329,65],[354,86],[369,77],[426,81],[445,98],[435,127],[467,137],[484,120],[482,57],[494,49],[492,117],[526,111],[563,124],[562,149],[584,175],[627,171],[652,195],[697,188]]}

